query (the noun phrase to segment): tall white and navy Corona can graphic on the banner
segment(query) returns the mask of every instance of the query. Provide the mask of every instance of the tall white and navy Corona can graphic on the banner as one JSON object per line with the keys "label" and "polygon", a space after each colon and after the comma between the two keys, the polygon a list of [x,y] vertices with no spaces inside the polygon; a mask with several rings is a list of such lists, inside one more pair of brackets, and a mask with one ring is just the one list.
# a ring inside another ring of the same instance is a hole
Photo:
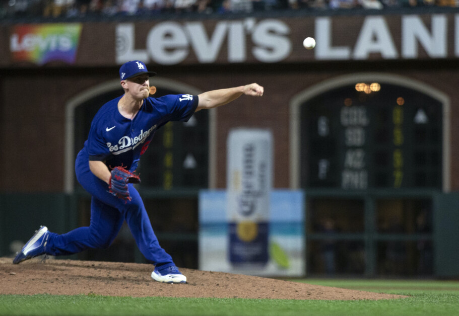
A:
{"label": "tall white and navy Corona can graphic on the banner", "polygon": [[227,142],[229,261],[268,263],[273,137],[270,130],[237,128]]}

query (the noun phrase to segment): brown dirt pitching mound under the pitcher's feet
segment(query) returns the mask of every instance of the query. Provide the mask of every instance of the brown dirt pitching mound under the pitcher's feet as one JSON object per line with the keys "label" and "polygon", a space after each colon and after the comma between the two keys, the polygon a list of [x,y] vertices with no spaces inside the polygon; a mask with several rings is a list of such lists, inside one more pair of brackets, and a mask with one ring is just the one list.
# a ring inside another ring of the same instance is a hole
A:
{"label": "brown dirt pitching mound under the pitcher's feet", "polygon": [[181,268],[186,284],[154,281],[150,264],[31,259],[14,265],[0,258],[0,294],[99,294],[277,299],[392,299],[405,296],[310,285],[241,274]]}

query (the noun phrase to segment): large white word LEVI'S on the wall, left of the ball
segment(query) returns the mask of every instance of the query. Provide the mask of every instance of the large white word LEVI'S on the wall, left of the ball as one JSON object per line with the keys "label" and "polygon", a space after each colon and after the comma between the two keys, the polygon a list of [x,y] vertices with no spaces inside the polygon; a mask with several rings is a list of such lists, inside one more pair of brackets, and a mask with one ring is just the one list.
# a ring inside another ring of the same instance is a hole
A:
{"label": "large white word LEVI'S on the wall, left of the ball", "polygon": [[249,57],[245,48],[251,39],[254,45],[251,53],[255,59],[277,62],[287,58],[292,51],[289,34],[290,27],[276,19],[220,21],[210,34],[203,22],[180,24],[167,21],[148,30],[146,38],[140,40],[145,43],[144,48],[138,48],[135,24],[121,23],[116,26],[116,61],[141,59],[149,62],[152,59],[159,64],[172,65],[194,53],[199,62],[212,63],[225,51],[226,45],[228,61],[244,62]]}

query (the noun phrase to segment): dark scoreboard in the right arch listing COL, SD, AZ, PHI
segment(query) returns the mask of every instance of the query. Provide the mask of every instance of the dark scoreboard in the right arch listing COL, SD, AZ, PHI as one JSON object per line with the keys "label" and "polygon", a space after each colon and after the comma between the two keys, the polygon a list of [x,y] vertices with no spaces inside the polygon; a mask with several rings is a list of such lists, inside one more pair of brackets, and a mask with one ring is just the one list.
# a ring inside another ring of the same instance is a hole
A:
{"label": "dark scoreboard in the right arch listing COL, SD, AZ, PHI", "polygon": [[357,83],[301,105],[301,187],[442,187],[442,103]]}

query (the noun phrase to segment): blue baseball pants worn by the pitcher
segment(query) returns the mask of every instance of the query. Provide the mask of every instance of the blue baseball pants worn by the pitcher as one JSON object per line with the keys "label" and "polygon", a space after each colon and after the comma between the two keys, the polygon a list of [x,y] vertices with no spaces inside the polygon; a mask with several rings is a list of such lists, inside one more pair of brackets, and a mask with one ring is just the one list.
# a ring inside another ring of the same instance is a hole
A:
{"label": "blue baseball pants worn by the pitcher", "polygon": [[172,257],[158,243],[142,198],[132,184],[128,185],[131,201],[108,192],[105,182],[89,170],[88,158],[82,150],[77,157],[76,173],[80,184],[92,195],[89,227],[79,227],[68,233],[50,232],[46,253],[52,256],[71,255],[86,249],[103,249],[111,245],[124,220],[142,254],[155,266],[173,266]]}

